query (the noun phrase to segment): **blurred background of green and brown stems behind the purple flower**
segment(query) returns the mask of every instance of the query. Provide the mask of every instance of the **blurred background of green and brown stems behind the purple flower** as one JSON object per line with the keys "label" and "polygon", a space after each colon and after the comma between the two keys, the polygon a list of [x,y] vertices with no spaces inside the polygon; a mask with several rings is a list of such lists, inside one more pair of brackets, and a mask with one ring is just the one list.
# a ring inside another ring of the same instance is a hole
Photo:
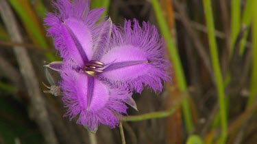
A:
{"label": "blurred background of green and brown stems behind the purple flower", "polygon": [[[92,0],[91,7],[106,8],[116,25],[132,18],[156,25],[173,63],[162,93],[134,93],[139,111],[122,119],[127,143],[256,143],[256,0]],[[0,8],[0,143],[121,143],[119,128],[89,134],[62,117],[60,97],[42,93],[42,66],[59,59],[42,22],[51,1],[0,0]],[[33,74],[36,88],[26,77]]]}

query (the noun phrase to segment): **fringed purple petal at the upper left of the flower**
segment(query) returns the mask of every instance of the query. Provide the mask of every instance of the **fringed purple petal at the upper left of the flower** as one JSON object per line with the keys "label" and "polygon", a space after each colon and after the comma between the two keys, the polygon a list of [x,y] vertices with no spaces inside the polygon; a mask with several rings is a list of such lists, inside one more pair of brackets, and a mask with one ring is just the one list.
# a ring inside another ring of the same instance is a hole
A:
{"label": "fringed purple petal at the upper left of the flower", "polygon": [[[89,10],[88,0],[58,0],[53,3],[56,14],[47,14],[47,32],[64,61],[73,67],[84,66],[93,57],[93,47],[99,44],[103,29],[110,27],[100,18],[103,9]],[[99,22],[97,22],[99,21]],[[97,23],[97,24],[96,24]],[[105,24],[105,26],[103,26]]]}

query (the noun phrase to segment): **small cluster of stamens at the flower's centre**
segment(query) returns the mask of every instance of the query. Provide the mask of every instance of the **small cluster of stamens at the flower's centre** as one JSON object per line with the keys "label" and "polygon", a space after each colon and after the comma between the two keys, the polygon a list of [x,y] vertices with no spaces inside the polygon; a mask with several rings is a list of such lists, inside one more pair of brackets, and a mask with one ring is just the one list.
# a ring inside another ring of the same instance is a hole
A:
{"label": "small cluster of stamens at the flower's centre", "polygon": [[96,72],[103,72],[103,70],[99,70],[99,68],[103,68],[103,66],[104,66],[104,63],[100,61],[92,60],[86,63],[85,72],[90,76],[95,76]]}

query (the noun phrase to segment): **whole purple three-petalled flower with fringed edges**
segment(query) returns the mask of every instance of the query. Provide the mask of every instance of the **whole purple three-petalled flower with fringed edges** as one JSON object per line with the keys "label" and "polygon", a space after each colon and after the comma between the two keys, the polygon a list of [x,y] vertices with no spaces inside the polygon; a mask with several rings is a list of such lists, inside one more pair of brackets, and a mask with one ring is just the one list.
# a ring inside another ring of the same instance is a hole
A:
{"label": "whole purple three-petalled flower with fringed edges", "polygon": [[66,116],[90,131],[99,124],[114,128],[130,104],[131,95],[143,87],[162,90],[163,81],[170,81],[169,62],[164,59],[163,40],[156,27],[137,20],[126,20],[124,27],[112,25],[101,17],[103,9],[89,9],[89,1],[59,0],[58,12],[47,14],[45,24],[49,36],[63,58],[50,63],[62,80]]}

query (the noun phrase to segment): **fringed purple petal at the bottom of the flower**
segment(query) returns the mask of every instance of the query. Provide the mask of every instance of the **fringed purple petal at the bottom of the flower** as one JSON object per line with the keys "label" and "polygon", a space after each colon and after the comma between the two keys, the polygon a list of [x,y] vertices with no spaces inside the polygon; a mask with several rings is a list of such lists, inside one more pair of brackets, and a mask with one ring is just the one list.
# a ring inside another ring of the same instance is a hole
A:
{"label": "fringed purple petal at the bottom of the flower", "polygon": [[126,113],[127,106],[123,100],[130,96],[128,93],[68,68],[62,70],[61,76],[60,87],[64,94],[62,100],[64,106],[68,107],[65,116],[73,119],[78,115],[77,124],[84,125],[92,132],[97,130],[99,124],[111,128],[117,126],[121,113]]}

